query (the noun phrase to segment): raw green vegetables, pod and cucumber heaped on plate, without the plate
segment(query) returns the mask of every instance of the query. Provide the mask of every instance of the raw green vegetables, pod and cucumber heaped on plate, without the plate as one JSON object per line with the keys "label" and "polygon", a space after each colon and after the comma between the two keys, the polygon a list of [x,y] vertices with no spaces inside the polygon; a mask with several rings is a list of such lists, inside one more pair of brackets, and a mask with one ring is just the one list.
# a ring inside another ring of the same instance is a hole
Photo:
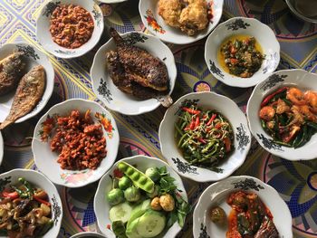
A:
{"label": "raw green vegetables, pod and cucumber heaped on plate, without the plate", "polygon": [[117,237],[157,237],[176,222],[185,224],[190,206],[166,167],[149,167],[143,173],[122,161],[111,178],[106,199],[111,206],[110,227]]}

